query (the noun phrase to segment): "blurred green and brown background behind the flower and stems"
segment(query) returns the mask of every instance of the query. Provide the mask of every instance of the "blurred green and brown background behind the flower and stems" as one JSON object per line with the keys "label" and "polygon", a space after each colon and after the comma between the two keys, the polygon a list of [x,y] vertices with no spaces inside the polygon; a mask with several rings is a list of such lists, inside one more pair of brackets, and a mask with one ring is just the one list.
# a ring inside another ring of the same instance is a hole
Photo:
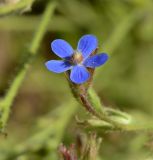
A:
{"label": "blurred green and brown background behind the flower and stems", "polygon": [[[13,11],[3,8],[20,1],[0,1],[0,95],[27,59],[27,50],[48,1],[25,1]],[[110,55],[98,68],[93,86],[106,106],[153,121],[153,1],[59,0],[19,92],[9,121],[0,135],[0,160],[57,160],[60,143],[69,146],[78,134],[88,134],[75,115],[88,116],[75,102],[64,74],[49,72],[44,63],[57,58],[52,40],[77,46],[84,34],[99,40],[99,52]],[[2,114],[2,113],[1,113]],[[99,160],[152,160],[152,132],[100,132]]]}

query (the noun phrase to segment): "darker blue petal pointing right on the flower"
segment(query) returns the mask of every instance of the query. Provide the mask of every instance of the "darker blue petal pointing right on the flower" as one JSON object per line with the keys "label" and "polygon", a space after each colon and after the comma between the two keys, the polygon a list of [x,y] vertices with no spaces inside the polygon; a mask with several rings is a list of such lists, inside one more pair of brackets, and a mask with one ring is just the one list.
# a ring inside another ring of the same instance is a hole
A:
{"label": "darker blue petal pointing right on the flower", "polygon": [[95,68],[103,65],[107,60],[108,55],[106,53],[101,53],[92,57],[88,57],[83,64],[86,67]]}

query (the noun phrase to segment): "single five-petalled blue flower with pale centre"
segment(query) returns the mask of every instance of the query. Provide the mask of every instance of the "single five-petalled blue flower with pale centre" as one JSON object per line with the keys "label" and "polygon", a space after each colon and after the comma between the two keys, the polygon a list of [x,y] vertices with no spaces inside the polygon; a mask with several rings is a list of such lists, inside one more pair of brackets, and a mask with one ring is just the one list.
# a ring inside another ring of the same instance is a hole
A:
{"label": "single five-petalled blue flower with pale centre", "polygon": [[51,43],[52,51],[63,60],[50,60],[45,63],[49,71],[62,73],[71,70],[73,83],[82,84],[90,78],[88,68],[96,68],[108,60],[106,53],[91,55],[98,48],[94,35],[84,35],[78,42],[77,50],[65,40],[56,39]]}

